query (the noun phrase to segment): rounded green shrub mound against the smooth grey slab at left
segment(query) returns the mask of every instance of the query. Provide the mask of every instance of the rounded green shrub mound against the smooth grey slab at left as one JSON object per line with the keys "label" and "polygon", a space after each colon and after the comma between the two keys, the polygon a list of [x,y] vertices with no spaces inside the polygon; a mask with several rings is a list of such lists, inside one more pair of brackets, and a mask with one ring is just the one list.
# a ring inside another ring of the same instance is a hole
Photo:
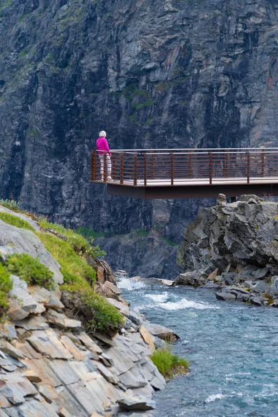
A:
{"label": "rounded green shrub mound against the smooth grey slab at left", "polygon": [[54,273],[28,254],[13,254],[8,256],[6,266],[9,272],[24,279],[28,285],[35,284],[52,290],[55,288]]}

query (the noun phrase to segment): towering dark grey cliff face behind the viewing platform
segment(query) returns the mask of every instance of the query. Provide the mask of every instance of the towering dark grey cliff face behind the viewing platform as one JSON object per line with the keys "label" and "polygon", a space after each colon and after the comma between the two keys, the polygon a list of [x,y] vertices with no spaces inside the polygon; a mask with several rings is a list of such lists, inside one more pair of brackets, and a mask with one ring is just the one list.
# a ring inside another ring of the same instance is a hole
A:
{"label": "towering dark grey cliff face behind the viewing platform", "polygon": [[[158,203],[88,183],[100,129],[118,149],[275,145],[277,8],[1,1],[1,196],[71,227],[149,230]],[[179,242],[199,202],[159,204],[165,236]]]}

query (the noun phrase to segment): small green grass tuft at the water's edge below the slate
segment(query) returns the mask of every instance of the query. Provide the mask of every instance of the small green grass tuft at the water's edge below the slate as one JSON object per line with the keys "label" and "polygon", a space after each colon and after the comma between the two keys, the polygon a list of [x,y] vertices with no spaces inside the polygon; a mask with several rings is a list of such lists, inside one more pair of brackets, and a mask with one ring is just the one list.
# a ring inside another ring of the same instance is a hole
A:
{"label": "small green grass tuft at the water's edge below the slate", "polygon": [[151,359],[163,377],[172,378],[175,374],[188,373],[190,362],[172,354],[170,347],[159,348],[152,354]]}

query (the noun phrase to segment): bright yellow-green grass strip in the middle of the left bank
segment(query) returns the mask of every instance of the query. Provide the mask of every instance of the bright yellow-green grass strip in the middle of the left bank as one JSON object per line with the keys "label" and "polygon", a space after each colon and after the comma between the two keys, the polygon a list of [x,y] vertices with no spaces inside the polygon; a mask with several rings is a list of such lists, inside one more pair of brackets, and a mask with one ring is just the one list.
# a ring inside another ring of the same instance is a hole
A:
{"label": "bright yellow-green grass strip in the middle of the left bank", "polygon": [[92,284],[95,282],[95,270],[81,258],[69,242],[65,242],[57,236],[40,232],[37,236],[42,240],[44,247],[62,266],[62,273],[65,281],[67,276],[75,277],[75,279],[85,279]]}

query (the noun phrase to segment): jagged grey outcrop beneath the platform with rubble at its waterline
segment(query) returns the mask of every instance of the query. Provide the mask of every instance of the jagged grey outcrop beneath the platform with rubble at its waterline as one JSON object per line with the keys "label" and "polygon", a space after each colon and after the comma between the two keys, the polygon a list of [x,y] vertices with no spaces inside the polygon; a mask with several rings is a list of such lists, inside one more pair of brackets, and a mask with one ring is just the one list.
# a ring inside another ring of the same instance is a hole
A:
{"label": "jagged grey outcrop beneath the platform with rubble at its waterline", "polygon": [[256,195],[206,208],[185,231],[173,285],[215,288],[219,300],[278,304],[278,204]]}

